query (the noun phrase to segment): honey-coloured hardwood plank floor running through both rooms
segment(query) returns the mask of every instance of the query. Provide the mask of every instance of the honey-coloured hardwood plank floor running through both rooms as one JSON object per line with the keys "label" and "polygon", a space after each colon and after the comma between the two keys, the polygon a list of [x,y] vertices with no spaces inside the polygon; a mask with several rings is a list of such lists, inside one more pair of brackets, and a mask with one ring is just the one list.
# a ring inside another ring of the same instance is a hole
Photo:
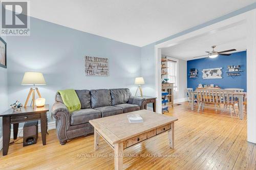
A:
{"label": "honey-coloured hardwood plank floor running through both rooms", "polygon": [[[244,120],[229,113],[204,110],[198,113],[175,105],[166,115],[179,118],[175,123],[175,149],[163,133],[124,150],[125,169],[256,169],[256,144],[246,141]],[[22,142],[22,139],[18,142]],[[114,169],[114,151],[100,138],[94,151],[93,135],[60,145],[55,130],[47,145],[28,147],[14,144],[7,156],[0,156],[0,169]]]}

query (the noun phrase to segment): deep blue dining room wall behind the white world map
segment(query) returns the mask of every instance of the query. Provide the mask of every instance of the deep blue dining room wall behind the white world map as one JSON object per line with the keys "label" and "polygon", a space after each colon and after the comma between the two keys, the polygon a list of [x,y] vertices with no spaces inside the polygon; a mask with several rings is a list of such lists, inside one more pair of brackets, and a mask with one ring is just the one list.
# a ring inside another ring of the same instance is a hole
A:
{"label": "deep blue dining room wall behind the white world map", "polygon": [[[228,65],[241,65],[241,76],[227,76]],[[222,67],[222,79],[203,79],[202,69]],[[187,75],[190,68],[199,70],[199,78],[190,79],[187,76],[187,87],[194,90],[198,84],[214,84],[221,88],[242,88],[246,91],[246,51],[232,53],[230,56],[218,56],[216,58],[202,58],[187,61]]]}

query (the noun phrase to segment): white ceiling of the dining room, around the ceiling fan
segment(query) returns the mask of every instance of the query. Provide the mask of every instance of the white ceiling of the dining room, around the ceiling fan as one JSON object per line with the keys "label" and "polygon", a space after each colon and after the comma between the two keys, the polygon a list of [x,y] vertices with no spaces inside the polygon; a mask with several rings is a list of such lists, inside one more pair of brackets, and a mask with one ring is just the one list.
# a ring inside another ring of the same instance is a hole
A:
{"label": "white ceiling of the dining room, around the ceiling fan", "polygon": [[161,52],[163,55],[192,60],[195,59],[193,57],[205,55],[205,51],[212,51],[212,45],[217,45],[215,51],[219,52],[233,48],[237,50],[235,52],[246,50],[246,24],[241,22],[236,26],[190,38],[174,46],[162,48]]}

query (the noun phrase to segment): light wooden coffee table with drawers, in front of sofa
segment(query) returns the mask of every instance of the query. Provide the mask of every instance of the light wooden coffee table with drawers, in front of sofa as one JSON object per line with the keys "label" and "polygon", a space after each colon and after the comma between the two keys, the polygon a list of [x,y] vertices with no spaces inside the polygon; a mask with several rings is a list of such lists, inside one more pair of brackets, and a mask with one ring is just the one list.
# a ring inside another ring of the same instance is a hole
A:
{"label": "light wooden coffee table with drawers, in front of sofa", "polygon": [[[130,124],[127,114],[139,114],[144,122]],[[122,169],[123,150],[148,138],[168,132],[169,147],[174,148],[174,122],[172,116],[139,110],[124,114],[90,120],[94,127],[94,149],[98,149],[101,136],[115,153],[115,169]]]}

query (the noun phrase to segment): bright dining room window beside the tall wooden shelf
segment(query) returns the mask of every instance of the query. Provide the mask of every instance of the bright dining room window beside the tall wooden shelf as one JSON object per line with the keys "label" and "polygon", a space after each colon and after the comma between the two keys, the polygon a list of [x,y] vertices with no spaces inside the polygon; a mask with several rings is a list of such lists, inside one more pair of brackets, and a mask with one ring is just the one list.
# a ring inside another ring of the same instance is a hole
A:
{"label": "bright dining room window beside the tall wooden shelf", "polygon": [[167,58],[167,77],[169,83],[174,83],[174,91],[178,91],[178,60]]}

